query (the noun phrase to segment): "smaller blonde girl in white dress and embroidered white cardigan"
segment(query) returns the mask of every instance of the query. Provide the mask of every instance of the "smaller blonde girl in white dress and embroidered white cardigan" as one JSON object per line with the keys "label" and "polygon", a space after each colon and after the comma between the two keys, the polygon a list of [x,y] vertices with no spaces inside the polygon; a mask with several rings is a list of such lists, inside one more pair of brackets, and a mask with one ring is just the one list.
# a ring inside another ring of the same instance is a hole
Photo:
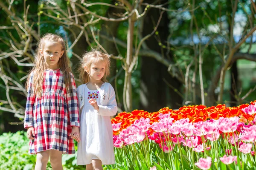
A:
{"label": "smaller blonde girl in white dress and embroidered white cardigan", "polygon": [[80,137],[77,164],[86,170],[102,170],[102,164],[115,164],[111,117],[117,112],[116,95],[107,82],[110,73],[108,54],[90,51],[82,57],[77,88]]}

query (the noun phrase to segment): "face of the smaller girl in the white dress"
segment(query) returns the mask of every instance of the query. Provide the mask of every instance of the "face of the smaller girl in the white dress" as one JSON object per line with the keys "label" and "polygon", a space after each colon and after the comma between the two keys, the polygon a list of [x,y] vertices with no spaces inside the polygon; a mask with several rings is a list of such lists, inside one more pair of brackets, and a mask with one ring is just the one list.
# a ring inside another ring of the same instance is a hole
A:
{"label": "face of the smaller girl in the white dress", "polygon": [[93,80],[100,80],[105,74],[106,63],[103,61],[92,63],[90,69],[87,69],[87,73],[90,75],[90,78]]}

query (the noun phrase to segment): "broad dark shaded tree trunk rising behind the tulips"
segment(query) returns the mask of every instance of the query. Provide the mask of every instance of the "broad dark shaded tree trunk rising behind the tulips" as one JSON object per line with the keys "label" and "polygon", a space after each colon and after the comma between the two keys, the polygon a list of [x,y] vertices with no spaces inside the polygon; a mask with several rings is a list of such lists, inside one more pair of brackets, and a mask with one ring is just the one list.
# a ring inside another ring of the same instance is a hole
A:
{"label": "broad dark shaded tree trunk rising behind the tulips", "polygon": [[[145,3],[152,3],[152,0],[145,0]],[[161,1],[161,4],[166,3],[167,0]],[[150,34],[160,17],[160,10],[157,8],[150,8],[144,18],[142,35],[143,37]],[[163,14],[160,24],[157,28],[158,35],[162,44],[165,44],[169,35],[169,18],[167,13]],[[148,48],[160,52],[163,57],[166,56],[166,49],[158,45],[154,35],[145,41]],[[172,56],[172,54],[169,54]],[[179,108],[182,104],[181,97],[175,92],[180,90],[181,84],[177,79],[170,76],[164,65],[157,62],[153,58],[141,57],[141,79],[140,79],[140,109],[154,112],[167,105],[171,108]],[[172,87],[170,88],[166,82]],[[176,89],[176,90],[175,90]]]}

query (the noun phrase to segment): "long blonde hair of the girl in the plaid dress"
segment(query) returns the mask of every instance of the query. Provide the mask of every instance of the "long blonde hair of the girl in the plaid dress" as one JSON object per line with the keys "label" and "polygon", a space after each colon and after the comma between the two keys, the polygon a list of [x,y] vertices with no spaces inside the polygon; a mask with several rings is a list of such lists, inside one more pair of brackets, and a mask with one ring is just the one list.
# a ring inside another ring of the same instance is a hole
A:
{"label": "long blonde hair of the girl in the plaid dress", "polygon": [[66,89],[72,91],[72,84],[71,84],[71,78],[70,78],[71,77],[70,73],[72,73],[72,72],[71,72],[71,68],[69,66],[70,60],[67,57],[67,50],[66,50],[66,46],[65,46],[66,42],[62,37],[60,37],[56,34],[51,34],[51,33],[45,34],[44,37],[38,41],[38,47],[36,49],[36,56],[34,59],[35,66],[29,72],[29,76],[26,81],[26,88],[28,89],[29,79],[33,74],[32,85],[33,85],[34,94],[36,96],[41,96],[42,84],[44,81],[44,71],[47,69],[47,65],[44,60],[44,57],[40,54],[40,50],[43,51],[44,41],[46,41],[46,40],[55,42],[55,43],[59,43],[61,45],[61,48],[62,48],[61,51],[64,51],[64,53],[63,53],[62,57],[58,60],[58,67],[63,72]]}

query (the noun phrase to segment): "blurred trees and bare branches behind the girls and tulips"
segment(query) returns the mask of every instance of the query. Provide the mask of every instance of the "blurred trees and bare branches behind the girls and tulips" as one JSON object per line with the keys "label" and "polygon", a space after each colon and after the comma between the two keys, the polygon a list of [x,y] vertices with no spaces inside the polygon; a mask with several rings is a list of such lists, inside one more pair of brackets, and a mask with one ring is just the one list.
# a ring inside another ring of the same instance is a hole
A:
{"label": "blurred trees and bare branches behind the girls and tulips", "polygon": [[[26,76],[47,32],[111,55],[119,112],[255,100],[253,0],[1,0],[0,133],[23,128]],[[14,125],[12,125],[14,124]]]}

